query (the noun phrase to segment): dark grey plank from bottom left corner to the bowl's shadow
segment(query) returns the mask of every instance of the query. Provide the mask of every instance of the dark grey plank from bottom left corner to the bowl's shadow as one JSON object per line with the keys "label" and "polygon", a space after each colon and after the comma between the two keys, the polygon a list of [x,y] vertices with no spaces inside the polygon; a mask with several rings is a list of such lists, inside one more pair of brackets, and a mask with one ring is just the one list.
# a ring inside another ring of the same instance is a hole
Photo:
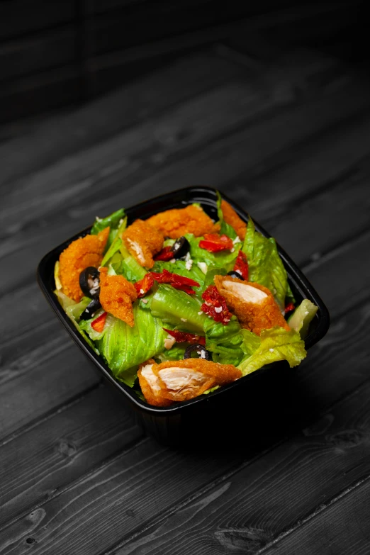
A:
{"label": "dark grey plank from bottom left corner to the bowl's shadow", "polygon": [[32,536],[35,553],[99,554],[237,464],[233,454],[179,452],[148,439],[4,528],[0,549],[21,555]]}

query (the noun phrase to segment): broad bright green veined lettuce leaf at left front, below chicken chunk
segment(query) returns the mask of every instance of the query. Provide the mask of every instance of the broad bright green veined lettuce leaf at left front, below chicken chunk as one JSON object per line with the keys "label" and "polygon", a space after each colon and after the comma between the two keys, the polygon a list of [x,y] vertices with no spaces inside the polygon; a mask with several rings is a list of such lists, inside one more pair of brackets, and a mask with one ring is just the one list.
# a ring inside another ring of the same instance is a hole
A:
{"label": "broad bright green veined lettuce leaf at left front, below chicken chunk", "polygon": [[128,385],[135,381],[133,367],[162,352],[167,337],[162,322],[150,310],[142,310],[139,303],[134,303],[133,313],[134,327],[112,316],[111,325],[98,341],[99,351],[114,376]]}

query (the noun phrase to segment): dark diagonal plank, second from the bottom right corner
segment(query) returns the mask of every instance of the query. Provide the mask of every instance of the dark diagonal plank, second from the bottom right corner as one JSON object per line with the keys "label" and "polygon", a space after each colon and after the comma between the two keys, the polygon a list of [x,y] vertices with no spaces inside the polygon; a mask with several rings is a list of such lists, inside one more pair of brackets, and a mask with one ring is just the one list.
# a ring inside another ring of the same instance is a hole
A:
{"label": "dark diagonal plank, second from the bottom right corner", "polygon": [[[155,523],[144,533],[126,534],[122,544],[109,554],[264,552],[265,546],[280,534],[284,536],[297,521],[323,510],[340,492],[369,476],[369,393],[367,383],[300,435],[245,464],[162,522],[154,517]],[[325,522],[318,518],[321,521]],[[298,538],[304,529],[296,532],[297,539],[282,539],[278,551],[296,552],[288,549],[293,545],[289,542],[294,542],[301,553],[304,543]],[[318,535],[317,550],[303,551],[325,552],[323,544],[320,550],[320,542],[322,534]]]}

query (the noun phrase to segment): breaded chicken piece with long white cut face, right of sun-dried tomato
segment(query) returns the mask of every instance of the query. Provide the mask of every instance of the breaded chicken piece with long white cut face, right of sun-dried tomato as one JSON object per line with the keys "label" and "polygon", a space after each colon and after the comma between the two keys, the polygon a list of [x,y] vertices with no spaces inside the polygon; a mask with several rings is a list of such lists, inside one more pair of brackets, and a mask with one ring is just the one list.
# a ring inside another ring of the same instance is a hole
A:
{"label": "breaded chicken piece with long white cut face, right of sun-dried tomato", "polygon": [[230,276],[215,276],[215,286],[247,330],[260,335],[262,330],[276,325],[291,329],[267,287]]}

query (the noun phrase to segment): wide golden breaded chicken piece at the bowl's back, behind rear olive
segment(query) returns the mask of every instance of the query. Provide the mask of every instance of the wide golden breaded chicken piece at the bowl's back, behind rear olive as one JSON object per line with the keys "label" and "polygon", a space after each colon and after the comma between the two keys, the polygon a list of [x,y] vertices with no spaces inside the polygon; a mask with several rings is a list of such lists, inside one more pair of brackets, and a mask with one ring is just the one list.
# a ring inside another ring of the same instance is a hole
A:
{"label": "wide golden breaded chicken piece at the bowl's back, behind rear olive", "polygon": [[220,230],[220,225],[213,223],[202,208],[193,205],[159,212],[148,218],[147,223],[171,239],[182,237],[185,233],[202,237],[205,233],[217,233]]}

